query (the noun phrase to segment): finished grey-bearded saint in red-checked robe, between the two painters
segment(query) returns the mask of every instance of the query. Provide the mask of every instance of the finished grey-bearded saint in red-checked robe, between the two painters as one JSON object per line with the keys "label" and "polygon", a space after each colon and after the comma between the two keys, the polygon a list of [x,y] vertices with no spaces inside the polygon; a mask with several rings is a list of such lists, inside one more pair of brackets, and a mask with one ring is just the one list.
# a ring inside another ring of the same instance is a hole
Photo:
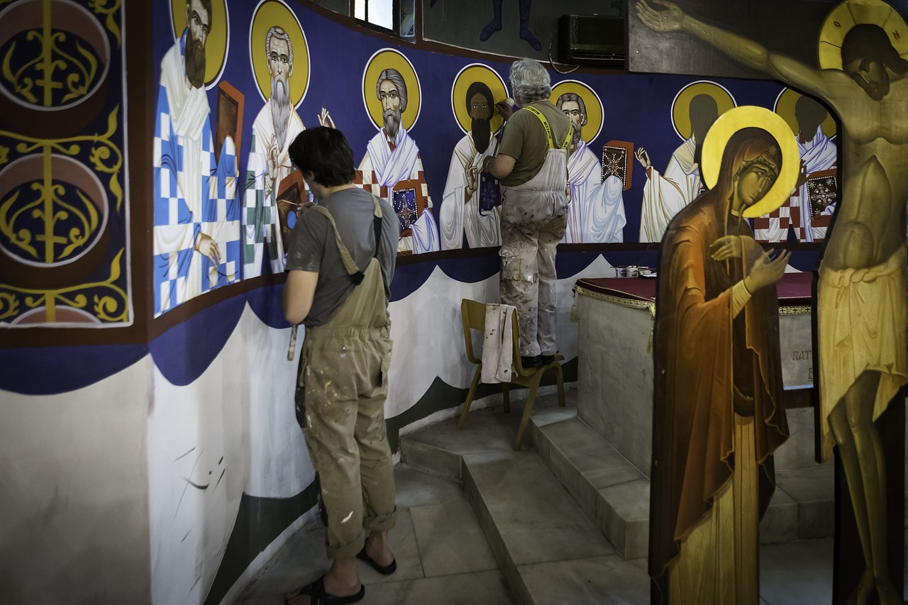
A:
{"label": "finished grey-bearded saint in red-checked robe, between the two painters", "polygon": [[362,86],[363,103],[379,132],[367,146],[354,183],[394,206],[401,253],[439,250],[419,147],[408,132],[419,117],[419,78],[407,57],[385,48],[367,62]]}

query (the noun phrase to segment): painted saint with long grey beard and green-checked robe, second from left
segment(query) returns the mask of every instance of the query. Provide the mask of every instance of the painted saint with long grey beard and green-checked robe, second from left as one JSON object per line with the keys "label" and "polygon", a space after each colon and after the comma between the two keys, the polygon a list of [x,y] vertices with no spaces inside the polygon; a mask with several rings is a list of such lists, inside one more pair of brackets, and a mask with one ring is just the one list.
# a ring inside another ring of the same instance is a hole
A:
{"label": "painted saint with long grey beard and green-checked robe, second from left", "polygon": [[[243,277],[262,274],[267,257],[272,273],[283,271],[278,236],[277,194],[292,172],[288,150],[303,130],[296,113],[309,84],[309,48],[291,10],[278,0],[259,5],[252,17],[250,58],[265,99],[252,123],[252,145],[243,196]],[[267,256],[265,249],[267,245]]]}

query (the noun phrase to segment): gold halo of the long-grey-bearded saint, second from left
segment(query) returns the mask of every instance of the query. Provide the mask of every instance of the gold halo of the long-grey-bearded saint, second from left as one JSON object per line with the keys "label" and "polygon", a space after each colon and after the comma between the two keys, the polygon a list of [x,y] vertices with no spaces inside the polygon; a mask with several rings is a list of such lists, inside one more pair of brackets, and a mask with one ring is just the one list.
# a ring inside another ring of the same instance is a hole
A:
{"label": "gold halo of the long-grey-bearded saint, second from left", "polygon": [[309,43],[306,41],[300,21],[283,0],[262,0],[252,16],[252,24],[249,26],[249,56],[255,83],[259,86],[263,100],[271,98],[271,74],[268,71],[265,40],[268,37],[268,30],[274,25],[283,27],[293,45],[290,100],[294,107],[299,107],[309,89]]}

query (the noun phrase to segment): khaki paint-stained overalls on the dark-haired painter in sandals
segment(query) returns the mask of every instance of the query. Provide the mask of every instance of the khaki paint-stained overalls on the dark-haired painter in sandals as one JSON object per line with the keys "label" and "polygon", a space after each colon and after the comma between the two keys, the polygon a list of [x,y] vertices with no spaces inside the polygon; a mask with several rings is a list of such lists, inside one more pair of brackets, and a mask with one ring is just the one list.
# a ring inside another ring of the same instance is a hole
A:
{"label": "khaki paint-stained overalls on the dark-haired painter in sandals", "polygon": [[[314,209],[331,223],[347,273],[359,273],[331,213],[323,206]],[[375,216],[381,216],[378,199]],[[377,225],[376,247],[379,230]],[[384,413],[390,317],[378,258],[373,256],[363,274],[329,322],[306,329],[302,345],[303,434],[321,481],[329,559],[356,556],[371,531],[394,526],[394,469]]]}

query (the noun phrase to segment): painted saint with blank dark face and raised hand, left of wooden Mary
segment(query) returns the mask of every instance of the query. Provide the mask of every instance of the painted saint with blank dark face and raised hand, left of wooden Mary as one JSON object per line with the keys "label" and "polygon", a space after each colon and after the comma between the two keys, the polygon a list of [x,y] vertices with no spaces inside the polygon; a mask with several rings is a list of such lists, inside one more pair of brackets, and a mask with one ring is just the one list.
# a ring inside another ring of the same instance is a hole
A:
{"label": "painted saint with blank dark face and raised hand, left of wooden Mary", "polygon": [[716,118],[735,106],[735,99],[725,87],[715,82],[694,82],[675,96],[672,122],[684,144],[668,162],[666,172],[659,174],[643,147],[634,157],[646,170],[643,206],[640,211],[640,242],[659,242],[668,222],[691,203],[702,190],[700,150],[706,131]]}

